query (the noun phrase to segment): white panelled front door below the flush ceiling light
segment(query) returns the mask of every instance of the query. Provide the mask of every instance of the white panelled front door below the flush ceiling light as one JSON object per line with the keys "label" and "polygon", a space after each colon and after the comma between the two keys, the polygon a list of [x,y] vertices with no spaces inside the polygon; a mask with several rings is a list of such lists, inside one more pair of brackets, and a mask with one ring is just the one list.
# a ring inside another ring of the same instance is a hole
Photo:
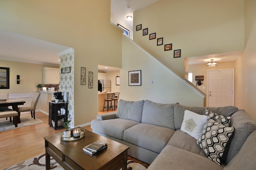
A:
{"label": "white panelled front door below the flush ceiling light", "polygon": [[234,69],[208,70],[208,106],[234,106]]}

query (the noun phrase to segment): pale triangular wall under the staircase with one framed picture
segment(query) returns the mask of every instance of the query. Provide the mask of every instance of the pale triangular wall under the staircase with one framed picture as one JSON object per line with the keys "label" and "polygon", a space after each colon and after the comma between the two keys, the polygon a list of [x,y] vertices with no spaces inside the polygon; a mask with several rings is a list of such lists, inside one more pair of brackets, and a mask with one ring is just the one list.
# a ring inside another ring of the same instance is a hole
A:
{"label": "pale triangular wall under the staircase with one framed picture", "polygon": [[[182,78],[159,63],[123,36],[122,69],[120,69],[120,99],[151,100],[157,103],[176,103],[203,106],[202,96],[193,91]],[[128,85],[128,71],[141,70],[142,86]],[[155,82],[152,84],[151,80]]]}

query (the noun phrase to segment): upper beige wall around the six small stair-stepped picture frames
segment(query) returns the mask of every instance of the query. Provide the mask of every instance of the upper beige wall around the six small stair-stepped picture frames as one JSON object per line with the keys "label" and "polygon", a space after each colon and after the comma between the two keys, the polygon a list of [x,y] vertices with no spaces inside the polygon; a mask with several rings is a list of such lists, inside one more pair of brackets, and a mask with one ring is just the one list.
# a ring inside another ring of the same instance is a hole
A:
{"label": "upper beige wall around the six small stair-stepped picture frames", "polygon": [[[164,51],[134,27],[134,41],[180,77],[184,57],[244,50],[244,0],[160,0],[134,12],[139,24],[172,43],[172,51]],[[181,58],[173,58],[174,49],[181,49]]]}

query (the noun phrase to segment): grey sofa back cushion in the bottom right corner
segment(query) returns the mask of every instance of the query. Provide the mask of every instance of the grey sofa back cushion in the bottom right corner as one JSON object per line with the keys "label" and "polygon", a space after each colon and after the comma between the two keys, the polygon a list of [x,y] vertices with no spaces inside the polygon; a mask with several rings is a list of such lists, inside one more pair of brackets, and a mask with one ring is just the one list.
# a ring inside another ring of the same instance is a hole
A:
{"label": "grey sofa back cushion in the bottom right corner", "polygon": [[256,170],[256,131],[246,139],[244,145],[224,170]]}

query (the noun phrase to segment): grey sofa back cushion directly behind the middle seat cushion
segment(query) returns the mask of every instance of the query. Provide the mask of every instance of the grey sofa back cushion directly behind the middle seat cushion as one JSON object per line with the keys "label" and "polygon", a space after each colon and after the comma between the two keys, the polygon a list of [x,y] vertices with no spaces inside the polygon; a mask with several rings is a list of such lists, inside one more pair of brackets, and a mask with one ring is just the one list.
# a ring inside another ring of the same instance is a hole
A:
{"label": "grey sofa back cushion directly behind the middle seat cushion", "polygon": [[167,127],[174,127],[174,104],[160,104],[145,100],[141,123]]}

